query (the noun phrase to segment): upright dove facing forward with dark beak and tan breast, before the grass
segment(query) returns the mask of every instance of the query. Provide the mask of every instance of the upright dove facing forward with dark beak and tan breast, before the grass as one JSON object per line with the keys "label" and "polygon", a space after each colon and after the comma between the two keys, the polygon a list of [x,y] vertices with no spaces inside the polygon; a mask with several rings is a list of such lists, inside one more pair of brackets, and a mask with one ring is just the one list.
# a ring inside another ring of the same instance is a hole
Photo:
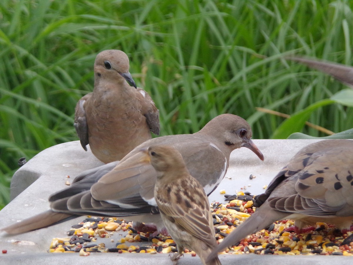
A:
{"label": "upright dove facing forward with dark beak and tan breast, before the grass", "polygon": [[122,159],[151,139],[150,131],[159,134],[159,112],[149,94],[136,87],[124,52],[98,53],[94,89],[77,102],[74,126],[83,149],[89,144],[104,163]]}

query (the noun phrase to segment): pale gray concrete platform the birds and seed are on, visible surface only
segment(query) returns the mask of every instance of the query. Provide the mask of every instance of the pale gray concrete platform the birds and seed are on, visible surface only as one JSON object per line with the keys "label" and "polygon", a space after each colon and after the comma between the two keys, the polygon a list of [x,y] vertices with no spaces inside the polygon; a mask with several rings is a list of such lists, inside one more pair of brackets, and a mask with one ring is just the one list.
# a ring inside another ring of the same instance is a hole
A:
{"label": "pale gray concrete platform the birds and seed are on, visible surface only", "polygon": [[[283,165],[302,147],[318,140],[254,140],[265,156],[264,162],[259,160],[247,148],[235,150],[231,155],[230,166],[226,177],[219,187],[210,195],[210,201],[224,201],[220,190],[234,194],[246,187],[252,194],[264,191],[268,184]],[[101,165],[89,151],[85,152],[79,141],[63,143],[50,147],[21,167],[13,177],[11,194],[13,200],[0,211],[0,227],[7,226],[17,220],[33,216],[49,208],[47,198],[49,194],[63,189],[65,181],[72,182],[80,172]],[[256,178],[250,179],[250,174]],[[70,176],[67,179],[67,175]],[[29,186],[29,187],[28,187]],[[28,188],[26,188],[28,187]],[[22,190],[24,190],[22,192]],[[18,195],[18,196],[16,196]],[[7,254],[0,253],[0,264],[47,263],[47,264],[83,264],[83,263],[113,263],[118,264],[172,264],[168,254],[118,254],[92,253],[88,257],[80,257],[78,253],[47,253],[53,237],[67,237],[66,231],[71,225],[81,222],[85,217],[51,226],[49,228],[28,232],[21,235],[0,235],[0,249],[7,249]],[[102,238],[100,242],[107,247],[114,247],[122,233],[115,232],[113,238]],[[105,241],[104,241],[105,240]],[[133,245],[137,245],[136,242]],[[351,257],[342,256],[273,256],[273,255],[220,255],[225,264],[330,264],[352,263]],[[201,264],[198,257],[185,254],[179,264]]]}

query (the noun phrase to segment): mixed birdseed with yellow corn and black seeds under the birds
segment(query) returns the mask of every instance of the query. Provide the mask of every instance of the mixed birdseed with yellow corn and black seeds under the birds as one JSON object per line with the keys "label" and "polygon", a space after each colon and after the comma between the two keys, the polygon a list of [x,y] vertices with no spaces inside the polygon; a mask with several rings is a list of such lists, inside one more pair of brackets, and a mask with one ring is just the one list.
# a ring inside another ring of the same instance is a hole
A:
{"label": "mixed birdseed with yellow corn and black seeds under the birds", "polygon": [[[211,205],[216,239],[219,242],[256,211],[256,207],[253,207],[254,196],[249,192],[225,194],[225,197],[228,203],[216,202]],[[334,226],[317,223],[316,227],[307,228],[305,233],[297,235],[291,231],[293,225],[292,220],[273,223],[267,230],[263,229],[247,236],[222,254],[353,255],[352,232],[342,234]],[[128,231],[127,235],[121,237],[113,248],[107,248],[104,243],[95,243],[98,238],[109,238],[121,231]],[[162,234],[152,236],[136,231],[132,228],[131,222],[119,218],[88,217],[83,222],[73,225],[67,233],[66,238],[53,238],[49,252],[78,252],[84,256],[91,252],[150,254],[177,252],[176,244],[170,236]],[[135,242],[138,244],[134,244]],[[184,252],[196,255],[191,249],[185,249]]]}

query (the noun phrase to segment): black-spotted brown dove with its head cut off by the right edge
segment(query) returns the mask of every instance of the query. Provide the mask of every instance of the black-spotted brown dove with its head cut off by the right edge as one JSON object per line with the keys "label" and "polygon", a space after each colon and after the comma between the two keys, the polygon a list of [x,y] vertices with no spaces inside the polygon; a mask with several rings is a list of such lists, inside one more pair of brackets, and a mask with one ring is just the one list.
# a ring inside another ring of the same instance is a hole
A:
{"label": "black-spotted brown dove with its head cut off by the right edge", "polygon": [[209,258],[277,220],[292,219],[298,229],[316,222],[347,229],[353,220],[353,141],[332,139],[301,149],[275,176],[256,208],[214,249]]}

